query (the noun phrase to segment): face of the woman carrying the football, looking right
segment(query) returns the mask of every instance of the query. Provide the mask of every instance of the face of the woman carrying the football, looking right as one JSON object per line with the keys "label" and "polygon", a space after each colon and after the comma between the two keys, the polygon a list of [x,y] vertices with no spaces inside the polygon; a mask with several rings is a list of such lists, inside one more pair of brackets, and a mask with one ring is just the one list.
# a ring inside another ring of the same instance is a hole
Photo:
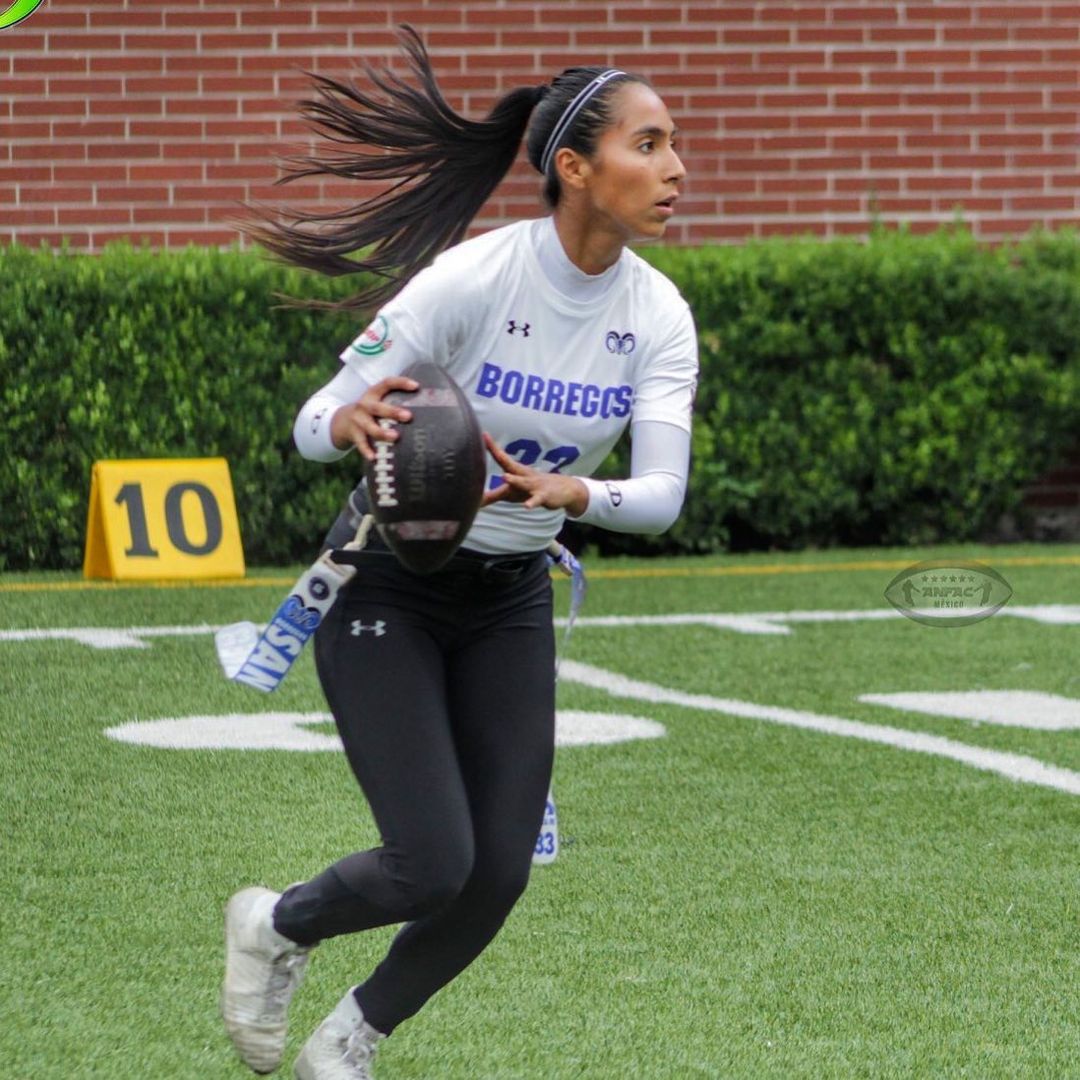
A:
{"label": "face of the woman carrying the football, looking right", "polygon": [[627,83],[611,97],[615,122],[585,170],[592,211],[625,240],[662,237],[686,176],[675,125],[656,91]]}

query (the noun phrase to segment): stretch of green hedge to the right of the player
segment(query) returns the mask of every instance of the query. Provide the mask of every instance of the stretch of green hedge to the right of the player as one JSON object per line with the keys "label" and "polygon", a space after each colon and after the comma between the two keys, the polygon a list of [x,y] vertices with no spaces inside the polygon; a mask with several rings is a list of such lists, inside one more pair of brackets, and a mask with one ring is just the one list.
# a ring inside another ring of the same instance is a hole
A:
{"label": "stretch of green hedge to the right of the player", "polygon": [[702,364],[688,510],[656,549],[974,539],[1075,445],[1074,233],[649,258],[689,300]]}

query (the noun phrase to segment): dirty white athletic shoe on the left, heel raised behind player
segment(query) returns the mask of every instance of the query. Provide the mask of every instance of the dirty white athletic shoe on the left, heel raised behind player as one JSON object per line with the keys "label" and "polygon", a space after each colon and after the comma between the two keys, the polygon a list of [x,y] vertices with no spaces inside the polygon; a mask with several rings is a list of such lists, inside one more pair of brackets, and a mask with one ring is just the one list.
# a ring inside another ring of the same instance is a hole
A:
{"label": "dirty white athletic shoe on the left, heel raised behind player", "polygon": [[255,1072],[273,1072],[285,1052],[288,1002],[311,951],[273,928],[281,893],[242,889],[225,909],[221,1017],[232,1044]]}

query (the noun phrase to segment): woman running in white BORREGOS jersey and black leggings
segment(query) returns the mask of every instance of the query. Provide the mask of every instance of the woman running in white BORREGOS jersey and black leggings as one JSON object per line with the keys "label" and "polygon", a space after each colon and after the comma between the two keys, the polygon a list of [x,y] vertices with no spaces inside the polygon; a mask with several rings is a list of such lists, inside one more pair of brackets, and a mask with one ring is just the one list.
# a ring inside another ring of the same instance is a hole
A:
{"label": "woman running in white BORREGOS jersey and black leggings", "polygon": [[[243,1059],[281,1061],[310,950],[404,923],[386,958],[302,1048],[302,1080],[370,1076],[377,1042],[488,945],[525,889],[554,753],[555,654],[545,550],[564,519],[661,532],[687,482],[697,341],[686,302],[627,244],[662,237],[685,176],[664,103],[640,77],[569,68],[514,90],[483,121],[443,99],[416,33],[413,82],[378,93],[315,78],[305,114],[336,151],[293,175],[393,181],[341,213],[267,219],[271,252],[329,274],[368,271],[346,306],[375,312],[300,409],[300,453],[372,459],[441,364],[486,433],[490,476],[463,545],[417,576],[378,542],[319,629],[315,661],[379,847],[226,913],[222,1011]],[[522,139],[550,215],[465,240]],[[433,260],[433,261],[432,261]],[[631,475],[590,474],[627,429]],[[340,549],[362,488],[330,530]]]}

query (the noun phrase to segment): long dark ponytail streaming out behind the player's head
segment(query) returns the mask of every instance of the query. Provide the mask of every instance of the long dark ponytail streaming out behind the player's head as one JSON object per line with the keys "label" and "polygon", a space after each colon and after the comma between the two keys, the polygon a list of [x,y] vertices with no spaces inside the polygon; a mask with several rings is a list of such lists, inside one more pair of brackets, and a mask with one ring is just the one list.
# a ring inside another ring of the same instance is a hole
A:
{"label": "long dark ponytail streaming out behind the player's head", "polygon": [[460,241],[513,165],[529,116],[548,90],[513,90],[483,120],[467,120],[443,97],[416,30],[402,26],[399,40],[419,85],[366,64],[381,97],[352,81],[312,75],[318,96],[301,103],[300,114],[338,148],[291,159],[278,181],[341,176],[390,186],[340,211],[255,210],[259,222],[244,226],[247,235],[287,262],[332,276],[375,275],[354,296],[316,306],[376,308]]}

